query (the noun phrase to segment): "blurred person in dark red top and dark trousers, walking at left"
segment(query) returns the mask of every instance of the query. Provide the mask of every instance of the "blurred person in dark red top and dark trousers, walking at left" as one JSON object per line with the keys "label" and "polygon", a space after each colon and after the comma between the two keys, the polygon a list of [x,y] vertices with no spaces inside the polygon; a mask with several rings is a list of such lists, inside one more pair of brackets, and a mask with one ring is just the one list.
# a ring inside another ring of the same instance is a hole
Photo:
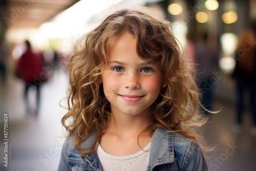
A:
{"label": "blurred person in dark red top and dark trousers, walking at left", "polygon": [[42,59],[39,53],[35,53],[32,50],[29,40],[25,41],[26,51],[17,61],[17,73],[25,82],[24,98],[26,104],[27,113],[29,110],[29,89],[36,90],[36,108],[34,115],[38,115],[39,103],[40,103],[40,86],[42,84]]}

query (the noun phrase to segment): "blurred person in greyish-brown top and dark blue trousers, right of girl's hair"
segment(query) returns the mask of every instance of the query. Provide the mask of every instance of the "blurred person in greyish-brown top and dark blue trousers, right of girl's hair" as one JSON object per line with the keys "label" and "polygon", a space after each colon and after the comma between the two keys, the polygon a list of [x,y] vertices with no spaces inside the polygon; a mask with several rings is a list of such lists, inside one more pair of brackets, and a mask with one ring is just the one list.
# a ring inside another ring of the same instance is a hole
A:
{"label": "blurred person in greyish-brown top and dark blue trousers, right of girl's hair", "polygon": [[208,111],[212,110],[213,88],[217,83],[216,78],[213,78],[216,77],[215,72],[218,68],[218,51],[209,45],[207,33],[200,36],[196,45],[195,59],[196,77],[202,95],[201,103],[206,109],[203,109],[204,114],[208,115]]}

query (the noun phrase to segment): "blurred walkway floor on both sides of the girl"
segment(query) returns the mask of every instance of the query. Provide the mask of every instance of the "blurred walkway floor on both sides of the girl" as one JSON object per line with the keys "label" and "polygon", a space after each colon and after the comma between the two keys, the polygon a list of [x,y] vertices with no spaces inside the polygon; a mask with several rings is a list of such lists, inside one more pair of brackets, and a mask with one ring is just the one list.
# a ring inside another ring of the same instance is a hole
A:
{"label": "blurred walkway floor on both sides of the girl", "polygon": [[[225,81],[225,80],[222,80]],[[221,82],[220,83],[225,83]],[[3,130],[3,114],[9,115],[8,168],[3,161],[0,170],[31,171],[57,169],[63,139],[60,118],[65,110],[59,101],[65,97],[68,79],[64,70],[53,73],[53,77],[41,88],[41,103],[38,118],[27,115],[23,101],[23,82],[9,77],[6,86],[0,89],[0,128]],[[231,91],[230,91],[231,92]],[[30,92],[33,103],[35,92]],[[232,95],[230,95],[232,97]],[[216,99],[214,108],[222,108],[219,114],[210,116],[205,125],[208,144],[217,145],[207,154],[209,170],[256,170],[256,137],[249,134],[251,119],[244,115],[242,134],[234,134],[234,108],[232,102]],[[32,107],[31,107],[32,108]],[[2,131],[1,131],[1,139]],[[4,146],[0,144],[0,158],[4,157]]]}

